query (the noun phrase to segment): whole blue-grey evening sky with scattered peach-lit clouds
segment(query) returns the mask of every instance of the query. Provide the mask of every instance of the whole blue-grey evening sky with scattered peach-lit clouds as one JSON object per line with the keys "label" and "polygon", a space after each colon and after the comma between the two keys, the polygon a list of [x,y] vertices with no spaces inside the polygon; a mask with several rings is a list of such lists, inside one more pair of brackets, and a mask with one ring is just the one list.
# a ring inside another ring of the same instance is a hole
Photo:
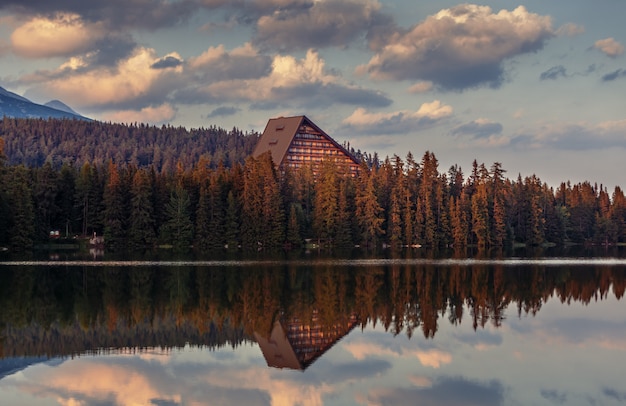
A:
{"label": "whole blue-grey evening sky with scattered peach-lit clouds", "polygon": [[306,115],[381,158],[626,187],[626,1],[0,0],[0,86],[103,121]]}

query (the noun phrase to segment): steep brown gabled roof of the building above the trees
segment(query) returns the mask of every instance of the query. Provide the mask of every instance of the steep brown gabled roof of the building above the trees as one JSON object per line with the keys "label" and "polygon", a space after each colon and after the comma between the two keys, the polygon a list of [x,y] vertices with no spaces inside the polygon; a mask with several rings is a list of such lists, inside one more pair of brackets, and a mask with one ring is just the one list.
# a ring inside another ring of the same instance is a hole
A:
{"label": "steep brown gabled roof of the building above the trees", "polygon": [[305,124],[319,132],[335,147],[337,147],[337,149],[343,152],[358,165],[358,160],[350,152],[348,152],[348,150],[339,145],[330,135],[326,134],[321,128],[315,125],[315,123],[313,123],[307,116],[278,117],[270,119],[265,126],[263,134],[261,134],[259,140],[257,141],[256,147],[252,152],[252,156],[258,157],[259,155],[270,151],[272,154],[272,161],[274,161],[276,165],[280,165],[289,150],[289,146],[291,145],[293,138],[298,133],[298,129]]}

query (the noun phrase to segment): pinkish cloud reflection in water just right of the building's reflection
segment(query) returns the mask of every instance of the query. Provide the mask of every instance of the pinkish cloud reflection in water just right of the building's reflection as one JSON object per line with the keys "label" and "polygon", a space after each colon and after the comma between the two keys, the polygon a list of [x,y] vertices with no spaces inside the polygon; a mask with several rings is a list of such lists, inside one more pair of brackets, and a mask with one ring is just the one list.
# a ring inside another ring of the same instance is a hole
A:
{"label": "pinkish cloud reflection in water just right of the building's reflection", "polygon": [[365,359],[370,356],[374,357],[415,357],[423,366],[431,368],[439,368],[441,365],[452,362],[452,355],[438,349],[428,350],[409,350],[400,348],[397,350],[383,347],[374,343],[354,342],[345,345],[345,349],[358,360]]}

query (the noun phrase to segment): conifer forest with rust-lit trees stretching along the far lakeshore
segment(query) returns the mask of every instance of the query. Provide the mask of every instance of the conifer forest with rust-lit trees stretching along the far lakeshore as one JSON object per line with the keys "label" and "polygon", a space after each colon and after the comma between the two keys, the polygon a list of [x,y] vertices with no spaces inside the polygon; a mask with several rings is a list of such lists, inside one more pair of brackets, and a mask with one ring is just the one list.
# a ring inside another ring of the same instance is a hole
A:
{"label": "conifer forest with rust-lit trees stretching along the far lakeshore", "polygon": [[[355,177],[333,161],[279,172],[249,156],[237,129],[0,121],[0,246],[31,249],[50,231],[103,235],[108,249],[510,247],[626,242],[621,188],[535,175],[499,162],[444,170],[432,152],[358,153]],[[72,157],[72,159],[68,159]]]}

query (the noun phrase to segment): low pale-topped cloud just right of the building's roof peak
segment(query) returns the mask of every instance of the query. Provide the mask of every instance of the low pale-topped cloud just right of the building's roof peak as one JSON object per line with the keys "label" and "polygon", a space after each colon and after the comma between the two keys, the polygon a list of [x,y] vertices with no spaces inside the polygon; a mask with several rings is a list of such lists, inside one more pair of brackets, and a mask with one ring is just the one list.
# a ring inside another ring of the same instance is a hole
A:
{"label": "low pale-topped cloud just right of the building's roof peak", "polygon": [[366,134],[406,134],[436,124],[452,115],[452,107],[439,100],[424,103],[417,111],[370,113],[360,107],[343,120],[344,129]]}

